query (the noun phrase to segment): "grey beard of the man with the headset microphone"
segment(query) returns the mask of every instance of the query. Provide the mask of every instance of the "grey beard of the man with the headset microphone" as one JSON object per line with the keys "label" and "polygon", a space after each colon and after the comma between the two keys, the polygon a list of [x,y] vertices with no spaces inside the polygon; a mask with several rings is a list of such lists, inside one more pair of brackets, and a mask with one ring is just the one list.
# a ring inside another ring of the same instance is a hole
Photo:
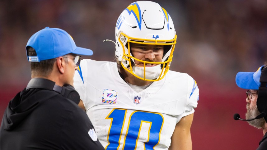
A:
{"label": "grey beard of the man with the headset microphone", "polygon": [[[246,105],[246,109],[247,109],[246,119],[255,118],[256,116],[260,114],[260,111],[258,110],[257,106],[249,108],[249,105],[250,104]],[[263,125],[265,124],[265,119],[260,118],[260,119],[251,120],[251,121],[248,121],[248,124],[251,126],[254,126],[255,128],[261,129]]]}

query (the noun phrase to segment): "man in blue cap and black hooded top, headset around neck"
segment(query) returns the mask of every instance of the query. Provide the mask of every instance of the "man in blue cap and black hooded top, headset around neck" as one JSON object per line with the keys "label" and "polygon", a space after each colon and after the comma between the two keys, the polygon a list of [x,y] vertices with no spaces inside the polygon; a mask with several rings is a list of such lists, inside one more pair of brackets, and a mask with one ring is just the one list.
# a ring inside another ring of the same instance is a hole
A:
{"label": "man in blue cap and black hooded top, headset around neck", "polygon": [[80,55],[93,52],[46,27],[30,37],[26,53],[32,79],[5,110],[0,149],[104,149],[72,86]]}

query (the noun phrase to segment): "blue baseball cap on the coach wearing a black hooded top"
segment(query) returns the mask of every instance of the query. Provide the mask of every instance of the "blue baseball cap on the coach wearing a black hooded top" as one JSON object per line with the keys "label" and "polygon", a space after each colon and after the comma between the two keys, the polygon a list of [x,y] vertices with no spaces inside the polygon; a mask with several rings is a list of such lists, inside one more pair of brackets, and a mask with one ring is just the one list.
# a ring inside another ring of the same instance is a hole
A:
{"label": "blue baseball cap on the coach wearing a black hooded top", "polygon": [[30,37],[26,49],[29,46],[34,48],[37,54],[37,56],[26,54],[28,61],[33,62],[53,59],[69,53],[89,56],[93,54],[91,49],[77,47],[73,38],[59,28],[45,27],[36,32]]}

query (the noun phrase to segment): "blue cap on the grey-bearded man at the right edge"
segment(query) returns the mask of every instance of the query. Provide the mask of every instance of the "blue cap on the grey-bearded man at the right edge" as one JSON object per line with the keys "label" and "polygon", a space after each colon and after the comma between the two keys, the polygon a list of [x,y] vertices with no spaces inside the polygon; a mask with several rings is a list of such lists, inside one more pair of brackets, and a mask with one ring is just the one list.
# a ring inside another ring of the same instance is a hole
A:
{"label": "blue cap on the grey-bearded man at the right edge", "polygon": [[238,72],[236,76],[237,86],[242,89],[259,89],[263,68],[264,66],[261,66],[256,72]]}

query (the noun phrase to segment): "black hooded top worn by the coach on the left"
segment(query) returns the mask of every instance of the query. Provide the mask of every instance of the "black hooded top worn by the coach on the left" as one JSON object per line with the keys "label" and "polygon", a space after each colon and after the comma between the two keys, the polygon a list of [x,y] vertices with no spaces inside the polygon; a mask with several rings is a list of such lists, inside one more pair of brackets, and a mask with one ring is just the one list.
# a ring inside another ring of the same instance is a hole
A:
{"label": "black hooded top worn by the coach on the left", "polygon": [[55,91],[28,89],[5,110],[1,150],[104,150],[86,113]]}

